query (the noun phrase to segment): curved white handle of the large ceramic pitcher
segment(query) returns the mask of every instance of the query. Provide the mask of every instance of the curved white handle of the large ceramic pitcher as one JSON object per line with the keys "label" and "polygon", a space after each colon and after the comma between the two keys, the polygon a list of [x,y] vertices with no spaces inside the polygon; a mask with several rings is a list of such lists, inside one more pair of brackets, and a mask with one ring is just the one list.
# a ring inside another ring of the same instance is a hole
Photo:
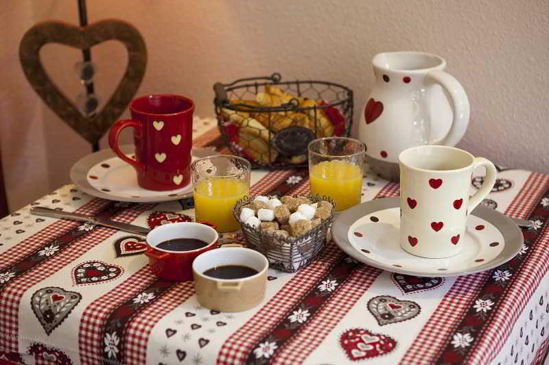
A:
{"label": "curved white handle of the large ceramic pitcher", "polygon": [[454,120],[446,136],[432,140],[429,144],[455,146],[461,140],[467,130],[467,125],[469,125],[470,106],[467,94],[465,94],[465,90],[459,81],[444,71],[430,71],[425,75],[425,82],[442,86],[449,96],[450,103],[452,103],[452,112],[454,112]]}

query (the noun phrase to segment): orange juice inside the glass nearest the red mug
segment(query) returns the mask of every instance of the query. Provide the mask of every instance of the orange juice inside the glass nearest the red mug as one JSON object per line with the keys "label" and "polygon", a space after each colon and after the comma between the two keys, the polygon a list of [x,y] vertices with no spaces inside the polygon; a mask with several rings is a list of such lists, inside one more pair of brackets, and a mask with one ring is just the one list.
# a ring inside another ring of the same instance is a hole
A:
{"label": "orange juice inside the glass nearest the red mug", "polygon": [[208,221],[221,232],[237,231],[240,225],[233,216],[235,203],[248,194],[248,185],[234,177],[205,179],[194,190],[196,221]]}

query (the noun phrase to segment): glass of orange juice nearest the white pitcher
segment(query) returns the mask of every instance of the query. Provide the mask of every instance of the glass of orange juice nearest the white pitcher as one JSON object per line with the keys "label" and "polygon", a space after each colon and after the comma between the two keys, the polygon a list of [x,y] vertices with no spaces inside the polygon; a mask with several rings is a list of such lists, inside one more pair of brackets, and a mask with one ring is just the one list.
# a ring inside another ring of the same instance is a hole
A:
{"label": "glass of orange juice nearest the white pitcher", "polygon": [[309,143],[309,183],[317,197],[329,197],[336,210],[360,203],[364,143],[344,137],[318,138]]}

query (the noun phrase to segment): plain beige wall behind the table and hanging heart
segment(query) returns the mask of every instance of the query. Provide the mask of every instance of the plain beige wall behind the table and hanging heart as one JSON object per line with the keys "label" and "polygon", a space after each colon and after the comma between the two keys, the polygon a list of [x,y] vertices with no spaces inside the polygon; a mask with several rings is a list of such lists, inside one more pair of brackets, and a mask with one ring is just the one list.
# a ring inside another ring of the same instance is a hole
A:
{"label": "plain beige wall behind the table and hanging heart", "polygon": [[[202,116],[213,115],[215,81],[273,71],[350,86],[358,116],[373,84],[375,53],[437,53],[471,101],[470,127],[458,146],[549,173],[546,0],[88,0],[88,8],[90,21],[122,18],[141,30],[149,63],[139,94],[187,95]],[[12,210],[69,182],[71,165],[89,152],[19,66],[19,40],[49,19],[78,23],[76,0],[4,0],[0,8],[0,144]],[[73,71],[79,58],[57,45],[43,51],[47,70],[71,97],[82,90]],[[95,47],[93,58],[106,100],[126,55],[110,42]]]}

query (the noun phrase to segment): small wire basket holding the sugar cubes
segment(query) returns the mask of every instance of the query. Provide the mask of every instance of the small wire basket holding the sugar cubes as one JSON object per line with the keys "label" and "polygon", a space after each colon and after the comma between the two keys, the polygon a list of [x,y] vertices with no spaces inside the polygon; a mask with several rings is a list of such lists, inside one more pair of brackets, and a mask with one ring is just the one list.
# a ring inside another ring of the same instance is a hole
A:
{"label": "small wire basket holding the sugar cubes", "polygon": [[331,214],[323,223],[298,237],[281,238],[272,231],[261,231],[240,221],[240,210],[253,201],[244,197],[233,209],[233,215],[242,226],[242,235],[250,249],[255,249],[267,257],[270,267],[285,273],[295,273],[310,264],[323,251],[328,229],[334,220],[334,204],[330,199],[308,197],[313,203],[329,201],[332,204]]}

